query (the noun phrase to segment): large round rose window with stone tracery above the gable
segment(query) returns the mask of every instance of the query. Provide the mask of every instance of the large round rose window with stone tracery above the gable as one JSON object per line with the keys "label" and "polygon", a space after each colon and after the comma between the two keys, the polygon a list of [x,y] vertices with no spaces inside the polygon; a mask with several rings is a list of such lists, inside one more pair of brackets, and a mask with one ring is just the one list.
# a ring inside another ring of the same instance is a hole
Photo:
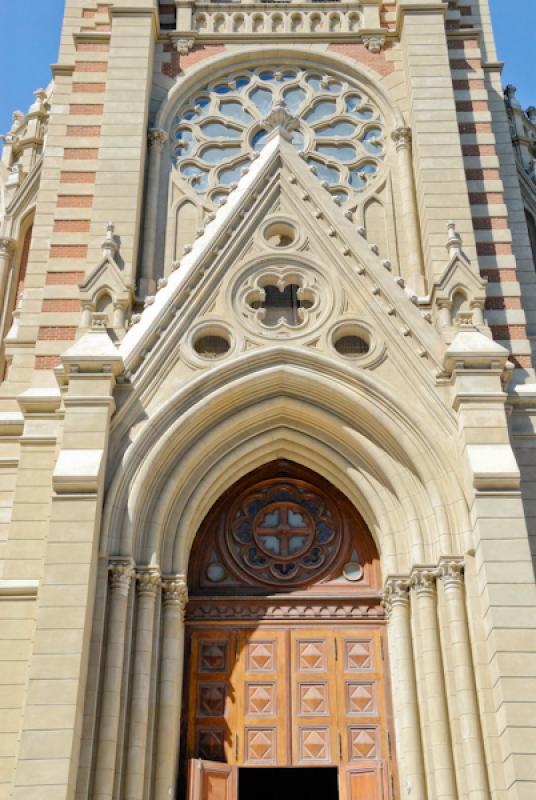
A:
{"label": "large round rose window with stone tracery above the gable", "polygon": [[316,70],[244,70],[196,92],[175,120],[180,176],[220,204],[263,149],[265,120],[281,104],[312,172],[341,203],[356,204],[384,159],[383,120],[361,88]]}

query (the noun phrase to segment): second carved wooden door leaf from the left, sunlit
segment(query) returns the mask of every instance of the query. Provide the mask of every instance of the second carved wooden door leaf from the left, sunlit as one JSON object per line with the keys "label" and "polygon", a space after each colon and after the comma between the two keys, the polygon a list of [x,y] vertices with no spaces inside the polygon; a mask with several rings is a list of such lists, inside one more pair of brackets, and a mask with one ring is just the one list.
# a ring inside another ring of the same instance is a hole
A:
{"label": "second carved wooden door leaf from the left, sunlit", "polygon": [[238,635],[238,763],[288,766],[287,632],[265,628]]}

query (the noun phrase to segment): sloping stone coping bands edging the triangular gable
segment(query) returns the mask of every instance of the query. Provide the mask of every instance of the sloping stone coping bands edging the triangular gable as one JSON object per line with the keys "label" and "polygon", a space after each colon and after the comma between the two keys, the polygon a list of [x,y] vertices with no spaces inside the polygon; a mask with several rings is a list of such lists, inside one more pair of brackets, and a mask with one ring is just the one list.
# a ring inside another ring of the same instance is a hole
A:
{"label": "sloping stone coping bands edging the triangular gable", "polygon": [[[274,176],[280,176],[286,166],[296,192],[296,210],[310,215],[317,228],[319,219],[327,229],[330,247],[337,248],[337,257],[347,259],[354,267],[356,285],[366,291],[371,307],[385,319],[383,324],[395,328],[408,339],[413,338],[413,350],[421,356],[431,356],[435,365],[442,361],[444,345],[435,329],[424,319],[415,305],[415,297],[404,288],[404,282],[393,275],[388,262],[382,261],[375,248],[347,219],[332,195],[311,174],[291,144],[275,131],[249,171],[230,193],[225,205],[209,218],[202,235],[194,242],[157,294],[148,298],[146,308],[120,345],[127,370],[132,374],[146,359],[153,357],[157,341],[165,339],[179,308],[192,294],[196,283],[207,272],[217,268],[218,257],[230,239],[240,235],[245,220],[255,214],[255,201]],[[324,235],[324,234],[322,234]],[[158,349],[158,348],[157,348]],[[145,372],[145,370],[143,370]]]}

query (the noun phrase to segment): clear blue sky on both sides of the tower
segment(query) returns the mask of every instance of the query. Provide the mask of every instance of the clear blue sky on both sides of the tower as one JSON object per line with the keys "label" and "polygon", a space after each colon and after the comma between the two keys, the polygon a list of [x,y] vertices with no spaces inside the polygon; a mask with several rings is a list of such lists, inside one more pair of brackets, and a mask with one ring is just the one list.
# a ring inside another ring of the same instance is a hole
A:
{"label": "clear blue sky on both sides of the tower", "polygon": [[[536,105],[536,0],[490,0],[504,83],[518,87],[524,107]],[[63,0],[0,0],[0,133],[11,113],[26,111],[32,92],[50,80],[58,56]]]}

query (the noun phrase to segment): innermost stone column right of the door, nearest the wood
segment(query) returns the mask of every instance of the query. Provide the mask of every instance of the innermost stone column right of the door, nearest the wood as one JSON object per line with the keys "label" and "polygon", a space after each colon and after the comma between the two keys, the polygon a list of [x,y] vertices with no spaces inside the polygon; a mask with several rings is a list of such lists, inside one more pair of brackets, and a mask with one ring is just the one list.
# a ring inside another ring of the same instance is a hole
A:
{"label": "innermost stone column right of the door, nearest the wood", "polygon": [[389,619],[389,651],[394,677],[400,797],[426,800],[415,657],[411,637],[409,581],[389,579],[385,587],[384,604]]}

